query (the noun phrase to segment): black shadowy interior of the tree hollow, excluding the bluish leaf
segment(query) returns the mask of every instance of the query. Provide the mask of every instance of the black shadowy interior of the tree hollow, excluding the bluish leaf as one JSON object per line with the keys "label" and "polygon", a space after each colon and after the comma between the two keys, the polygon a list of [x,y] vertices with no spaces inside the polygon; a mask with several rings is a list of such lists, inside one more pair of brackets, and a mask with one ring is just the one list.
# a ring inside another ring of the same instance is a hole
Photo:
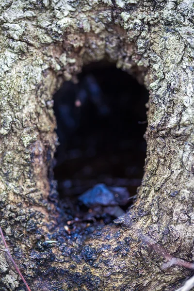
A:
{"label": "black shadowy interior of the tree hollow, excluding the bluish leaf", "polygon": [[[92,210],[78,197],[98,183],[127,187],[135,197],[146,158],[148,92],[128,73],[103,62],[83,67],[78,80],[64,82],[54,95],[60,142],[54,177],[66,220],[110,223],[115,217],[103,210],[91,218]],[[121,208],[126,211],[132,202]]]}

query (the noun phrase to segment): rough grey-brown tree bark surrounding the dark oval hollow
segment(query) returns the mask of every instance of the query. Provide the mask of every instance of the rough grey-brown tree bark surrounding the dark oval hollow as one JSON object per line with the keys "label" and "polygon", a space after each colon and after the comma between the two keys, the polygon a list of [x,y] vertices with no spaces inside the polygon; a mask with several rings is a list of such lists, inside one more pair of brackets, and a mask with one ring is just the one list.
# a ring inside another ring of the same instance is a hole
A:
{"label": "rough grey-brown tree bark surrounding the dark oval hollow", "polygon": [[[176,290],[193,260],[194,1],[0,1],[0,224],[32,290]],[[114,225],[72,238],[51,173],[52,94],[82,65],[108,59],[150,90],[147,158],[136,204]],[[47,244],[45,241],[57,243]],[[0,252],[0,290],[23,283]]]}

